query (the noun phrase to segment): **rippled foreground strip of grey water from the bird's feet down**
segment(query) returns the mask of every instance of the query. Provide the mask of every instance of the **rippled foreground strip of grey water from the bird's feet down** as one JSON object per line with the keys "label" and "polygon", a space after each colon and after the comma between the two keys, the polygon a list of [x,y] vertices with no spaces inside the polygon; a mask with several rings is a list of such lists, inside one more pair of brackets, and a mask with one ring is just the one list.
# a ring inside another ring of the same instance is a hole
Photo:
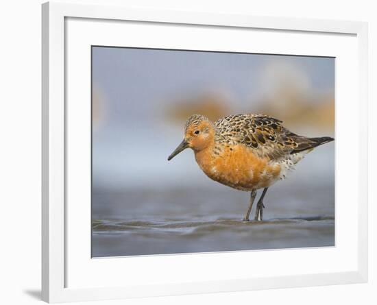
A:
{"label": "rippled foreground strip of grey water from the bird's feet down", "polygon": [[334,219],[95,221],[93,243],[95,257],[332,246]]}

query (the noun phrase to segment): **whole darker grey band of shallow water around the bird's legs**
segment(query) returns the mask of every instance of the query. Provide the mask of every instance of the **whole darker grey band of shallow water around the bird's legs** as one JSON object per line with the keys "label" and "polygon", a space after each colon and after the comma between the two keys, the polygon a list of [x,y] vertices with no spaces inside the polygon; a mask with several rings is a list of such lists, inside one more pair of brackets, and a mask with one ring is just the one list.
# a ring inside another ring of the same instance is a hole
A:
{"label": "whole darker grey band of shallow water around the bird's legs", "polygon": [[[249,194],[206,188],[93,188],[93,257],[335,245],[333,184],[302,180],[267,192],[264,221],[243,222]],[[258,193],[258,196],[260,192]],[[258,199],[258,197],[257,197]],[[255,204],[250,215],[253,219]]]}

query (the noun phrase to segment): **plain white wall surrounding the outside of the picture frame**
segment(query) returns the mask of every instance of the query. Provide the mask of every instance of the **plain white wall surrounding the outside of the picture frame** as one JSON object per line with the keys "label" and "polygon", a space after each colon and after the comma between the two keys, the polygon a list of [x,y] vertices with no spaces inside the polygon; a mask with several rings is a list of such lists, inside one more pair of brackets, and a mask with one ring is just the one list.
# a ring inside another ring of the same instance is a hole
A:
{"label": "plain white wall surrounding the outside of the picture frame", "polygon": [[[71,2],[73,2],[72,0]],[[103,1],[80,1],[97,3]],[[151,8],[234,12],[262,16],[300,16],[369,21],[369,99],[376,101],[377,10],[375,1],[107,1]],[[0,299],[1,304],[35,304],[40,291],[40,3],[3,1],[0,9]],[[372,56],[374,54],[374,56]],[[376,104],[371,102],[369,119]],[[369,156],[376,155],[376,120]],[[369,215],[374,215],[376,162],[370,162]],[[374,180],[372,180],[374,179]],[[132,300],[127,304],[375,304],[377,299],[377,226],[369,217],[369,284],[324,286],[273,291],[220,293]],[[265,262],[268,267],[268,262]],[[250,262],[252,268],[253,262]],[[4,299],[4,300],[3,300]],[[363,301],[365,299],[365,301]],[[374,300],[373,300],[374,299]],[[6,301],[5,301],[6,300]],[[100,302],[96,304],[124,304]],[[90,304],[90,303],[84,303]]]}

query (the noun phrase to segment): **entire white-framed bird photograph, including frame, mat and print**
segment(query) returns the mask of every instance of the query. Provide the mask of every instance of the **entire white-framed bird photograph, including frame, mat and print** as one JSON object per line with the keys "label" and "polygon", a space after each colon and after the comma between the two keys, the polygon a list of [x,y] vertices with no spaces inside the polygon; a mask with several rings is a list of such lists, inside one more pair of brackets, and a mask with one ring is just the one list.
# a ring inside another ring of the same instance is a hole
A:
{"label": "entire white-framed bird photograph, including frame, mat and print", "polygon": [[366,282],[366,86],[366,23],[43,4],[42,299]]}

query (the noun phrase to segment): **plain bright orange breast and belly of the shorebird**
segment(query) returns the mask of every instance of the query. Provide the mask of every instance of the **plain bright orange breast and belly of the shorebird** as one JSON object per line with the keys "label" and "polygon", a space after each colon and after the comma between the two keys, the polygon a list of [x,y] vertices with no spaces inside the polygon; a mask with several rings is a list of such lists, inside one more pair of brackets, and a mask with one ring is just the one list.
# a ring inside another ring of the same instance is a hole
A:
{"label": "plain bright orange breast and belly of the shorebird", "polygon": [[208,147],[195,152],[195,159],[209,178],[243,191],[268,187],[280,174],[280,165],[259,158],[243,145],[224,147],[219,155]]}

